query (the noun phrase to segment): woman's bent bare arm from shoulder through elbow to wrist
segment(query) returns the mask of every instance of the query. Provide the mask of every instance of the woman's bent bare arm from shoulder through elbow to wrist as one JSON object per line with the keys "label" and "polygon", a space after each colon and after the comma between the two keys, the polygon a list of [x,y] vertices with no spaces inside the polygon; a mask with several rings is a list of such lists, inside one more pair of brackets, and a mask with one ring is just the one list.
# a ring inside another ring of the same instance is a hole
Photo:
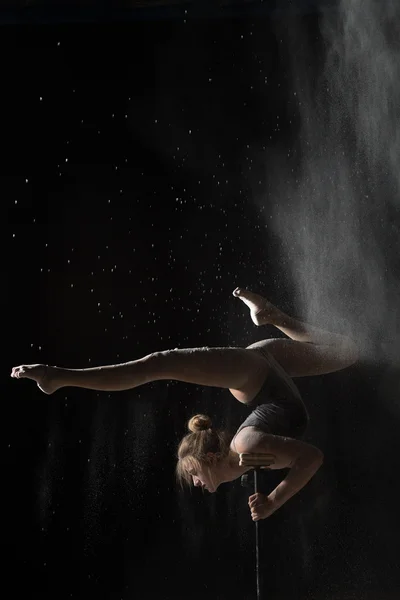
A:
{"label": "woman's bent bare arm from shoulder through elbow to wrist", "polygon": [[242,453],[273,454],[276,457],[273,468],[290,469],[287,477],[266,499],[269,514],[285,504],[310,481],[324,458],[321,450],[311,444],[261,432],[249,433],[236,447]]}

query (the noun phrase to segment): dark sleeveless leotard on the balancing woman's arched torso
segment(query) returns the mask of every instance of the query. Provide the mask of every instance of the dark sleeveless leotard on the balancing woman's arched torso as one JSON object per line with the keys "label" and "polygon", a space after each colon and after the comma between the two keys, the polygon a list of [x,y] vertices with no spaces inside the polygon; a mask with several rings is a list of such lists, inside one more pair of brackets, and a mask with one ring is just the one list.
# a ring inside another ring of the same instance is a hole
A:
{"label": "dark sleeveless leotard on the balancing woman's arched torso", "polygon": [[252,412],[236,435],[245,427],[257,427],[265,433],[301,439],[309,416],[299,390],[265,348],[255,350],[268,362],[270,371],[257,396],[247,404]]}

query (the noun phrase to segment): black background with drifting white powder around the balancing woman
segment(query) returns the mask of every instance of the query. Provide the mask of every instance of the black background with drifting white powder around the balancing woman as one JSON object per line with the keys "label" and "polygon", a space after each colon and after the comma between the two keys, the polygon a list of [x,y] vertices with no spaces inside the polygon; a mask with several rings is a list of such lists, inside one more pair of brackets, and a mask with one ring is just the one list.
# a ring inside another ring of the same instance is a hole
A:
{"label": "black background with drifting white powder around the balancing woman", "polygon": [[228,392],[8,377],[281,335],[237,285],[362,350],[297,380],[325,462],[261,523],[266,597],[397,597],[398,47],[332,58],[337,14],[3,25],[5,597],[255,598],[248,490],[174,482],[193,414],[247,414]]}

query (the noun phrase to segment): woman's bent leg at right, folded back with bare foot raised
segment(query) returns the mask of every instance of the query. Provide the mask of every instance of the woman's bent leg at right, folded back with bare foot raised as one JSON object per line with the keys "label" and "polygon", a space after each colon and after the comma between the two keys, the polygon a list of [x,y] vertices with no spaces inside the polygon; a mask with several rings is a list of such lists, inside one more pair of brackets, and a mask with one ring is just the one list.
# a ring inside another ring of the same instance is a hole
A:
{"label": "woman's bent leg at right, folded back with bare foot raised", "polygon": [[258,294],[237,288],[234,295],[250,308],[256,325],[274,325],[290,338],[262,340],[248,348],[264,347],[291,377],[332,373],[357,362],[351,338],[293,319]]}

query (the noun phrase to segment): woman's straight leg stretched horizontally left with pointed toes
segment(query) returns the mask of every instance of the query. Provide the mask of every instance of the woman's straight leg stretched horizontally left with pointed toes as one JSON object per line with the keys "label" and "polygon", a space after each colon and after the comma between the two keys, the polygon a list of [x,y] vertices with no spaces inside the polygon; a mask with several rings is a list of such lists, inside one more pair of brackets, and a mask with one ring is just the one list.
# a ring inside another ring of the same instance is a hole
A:
{"label": "woman's straight leg stretched horizontally left with pointed toes", "polygon": [[72,386],[99,391],[128,390],[150,381],[175,379],[197,385],[246,389],[265,378],[265,361],[243,348],[187,348],[155,352],[138,360],[89,369],[45,365],[14,367],[11,376],[37,382],[47,394]]}

